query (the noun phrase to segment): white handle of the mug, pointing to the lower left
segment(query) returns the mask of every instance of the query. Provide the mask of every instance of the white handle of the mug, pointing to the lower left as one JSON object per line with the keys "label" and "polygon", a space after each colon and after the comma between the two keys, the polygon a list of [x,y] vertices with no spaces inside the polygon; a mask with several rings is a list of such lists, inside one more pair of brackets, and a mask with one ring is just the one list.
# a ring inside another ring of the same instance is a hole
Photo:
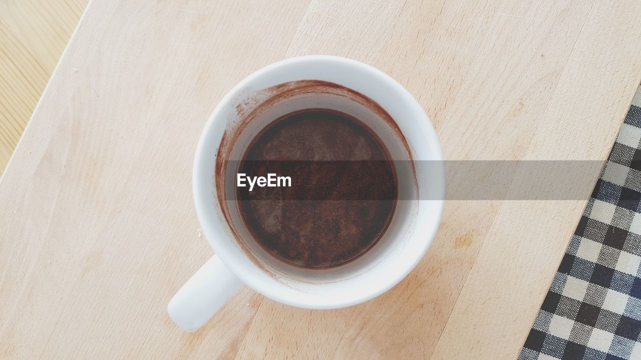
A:
{"label": "white handle of the mug, pointing to the lower left", "polygon": [[214,255],[178,290],[167,312],[179,327],[196,331],[242,286],[242,281]]}

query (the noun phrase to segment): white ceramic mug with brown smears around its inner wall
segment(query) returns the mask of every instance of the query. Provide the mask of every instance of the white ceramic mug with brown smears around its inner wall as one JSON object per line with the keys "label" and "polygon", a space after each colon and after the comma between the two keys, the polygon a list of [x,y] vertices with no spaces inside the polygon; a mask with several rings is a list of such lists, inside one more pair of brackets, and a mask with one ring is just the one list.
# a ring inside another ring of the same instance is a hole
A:
{"label": "white ceramic mug with brown smears around its inner wall", "polygon": [[[313,81],[321,85],[296,85]],[[333,92],[327,84],[342,90]],[[362,99],[383,111],[368,108]],[[377,133],[395,161],[411,165],[397,168],[399,201],[378,243],[360,258],[324,270],[288,265],[257,246],[239,222],[235,202],[225,197],[233,191],[234,181],[225,179],[233,179],[234,169],[221,167],[228,160],[223,157],[238,158],[269,121],[304,108],[353,115]],[[337,56],[301,56],[254,72],[213,110],[199,140],[194,202],[216,254],[169,302],[169,315],[179,327],[196,331],[244,284],[307,309],[352,306],[389,290],[419,263],[437,232],[445,193],[442,160],[437,135],[419,102],[374,67]]]}

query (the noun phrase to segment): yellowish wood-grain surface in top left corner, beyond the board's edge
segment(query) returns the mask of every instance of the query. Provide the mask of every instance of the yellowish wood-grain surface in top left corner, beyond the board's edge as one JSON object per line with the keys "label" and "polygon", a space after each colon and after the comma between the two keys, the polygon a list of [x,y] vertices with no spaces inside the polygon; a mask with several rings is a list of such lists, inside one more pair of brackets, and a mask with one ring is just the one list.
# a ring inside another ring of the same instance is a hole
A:
{"label": "yellowish wood-grain surface in top left corner, beyond the board's edge", "polygon": [[88,0],[0,0],[0,174]]}

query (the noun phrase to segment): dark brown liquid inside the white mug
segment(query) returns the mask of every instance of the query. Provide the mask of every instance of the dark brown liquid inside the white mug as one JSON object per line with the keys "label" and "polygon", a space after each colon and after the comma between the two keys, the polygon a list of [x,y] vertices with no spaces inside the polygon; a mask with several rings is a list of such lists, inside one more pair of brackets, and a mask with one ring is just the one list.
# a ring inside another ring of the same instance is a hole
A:
{"label": "dark brown liquid inside the white mug", "polygon": [[292,265],[348,263],[378,242],[394,215],[397,179],[385,145],[336,111],[275,120],[254,138],[238,173],[292,178],[291,187],[237,187],[236,194],[254,240]]}

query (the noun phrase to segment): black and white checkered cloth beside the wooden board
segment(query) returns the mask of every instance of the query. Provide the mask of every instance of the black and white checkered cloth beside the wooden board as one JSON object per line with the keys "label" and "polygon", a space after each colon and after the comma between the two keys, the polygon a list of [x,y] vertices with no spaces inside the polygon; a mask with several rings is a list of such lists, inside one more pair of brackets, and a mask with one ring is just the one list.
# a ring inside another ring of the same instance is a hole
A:
{"label": "black and white checkered cloth beside the wooden board", "polygon": [[641,87],[519,360],[641,359]]}

